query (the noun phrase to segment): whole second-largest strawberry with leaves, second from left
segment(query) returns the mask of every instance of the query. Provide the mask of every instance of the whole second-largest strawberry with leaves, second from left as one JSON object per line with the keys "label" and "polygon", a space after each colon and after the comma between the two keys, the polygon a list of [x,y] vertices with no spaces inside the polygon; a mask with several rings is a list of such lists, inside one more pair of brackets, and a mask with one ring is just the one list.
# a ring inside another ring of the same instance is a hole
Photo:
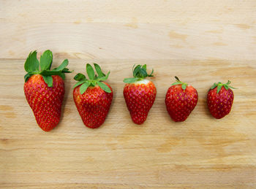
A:
{"label": "whole second-largest strawberry with leaves, second from left", "polygon": [[98,75],[94,74],[89,63],[86,64],[89,80],[80,73],[74,77],[78,81],[73,90],[75,105],[83,123],[89,128],[99,128],[105,122],[113,99],[112,88],[103,82],[108,79],[110,72],[103,74],[97,63],[94,63],[94,68]]}

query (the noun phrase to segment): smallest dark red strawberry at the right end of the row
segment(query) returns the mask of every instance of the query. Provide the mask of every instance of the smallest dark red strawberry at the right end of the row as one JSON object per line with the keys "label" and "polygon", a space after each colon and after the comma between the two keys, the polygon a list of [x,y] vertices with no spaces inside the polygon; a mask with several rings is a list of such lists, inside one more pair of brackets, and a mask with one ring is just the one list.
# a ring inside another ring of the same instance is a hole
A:
{"label": "smallest dark red strawberry at the right end of the row", "polygon": [[233,90],[231,90],[233,87],[230,86],[230,83],[230,81],[226,84],[222,84],[221,82],[214,83],[208,91],[208,109],[211,115],[217,119],[225,117],[231,110],[234,93]]}

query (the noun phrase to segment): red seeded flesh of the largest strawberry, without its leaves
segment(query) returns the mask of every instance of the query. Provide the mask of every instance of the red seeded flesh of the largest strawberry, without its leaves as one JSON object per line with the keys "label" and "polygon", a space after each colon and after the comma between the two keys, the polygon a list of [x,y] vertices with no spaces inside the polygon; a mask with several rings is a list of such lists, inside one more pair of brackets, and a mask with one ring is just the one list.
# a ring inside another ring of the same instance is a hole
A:
{"label": "red seeded flesh of the largest strawberry, without its leaves", "polygon": [[48,88],[39,74],[32,75],[24,84],[26,100],[43,131],[55,128],[61,117],[61,104],[65,93],[64,80],[58,75],[52,77],[52,88]]}

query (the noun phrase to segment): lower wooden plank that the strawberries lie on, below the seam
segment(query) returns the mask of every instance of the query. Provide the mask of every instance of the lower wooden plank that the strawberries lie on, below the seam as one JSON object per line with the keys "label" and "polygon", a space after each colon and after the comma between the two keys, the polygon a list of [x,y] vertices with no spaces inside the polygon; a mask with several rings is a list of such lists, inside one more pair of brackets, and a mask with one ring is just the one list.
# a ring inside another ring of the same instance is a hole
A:
{"label": "lower wooden plank that the strawberries lie on, below the seam", "polygon": [[[105,124],[93,130],[83,125],[72,99],[72,77],[91,61],[70,60],[69,68],[76,72],[67,75],[61,123],[45,133],[23,94],[24,61],[1,60],[6,65],[0,77],[4,188],[255,186],[255,62],[94,60],[104,71],[111,70],[114,98]],[[53,67],[60,62],[55,60]],[[157,99],[143,126],[132,123],[122,94],[122,79],[132,75],[133,63],[155,70]],[[174,74],[199,93],[197,107],[184,123],[174,123],[165,110]],[[222,120],[211,117],[206,107],[213,78],[230,79],[238,88],[232,112]]]}

